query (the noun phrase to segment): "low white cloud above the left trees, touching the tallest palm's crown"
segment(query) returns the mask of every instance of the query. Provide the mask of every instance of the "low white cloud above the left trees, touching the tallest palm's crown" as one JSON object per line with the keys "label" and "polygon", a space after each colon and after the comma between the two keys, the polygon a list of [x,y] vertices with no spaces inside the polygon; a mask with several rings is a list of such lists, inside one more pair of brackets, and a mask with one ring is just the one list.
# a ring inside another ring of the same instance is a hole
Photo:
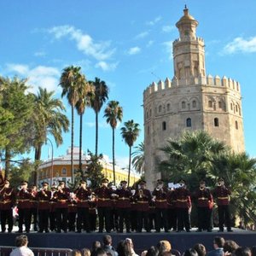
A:
{"label": "low white cloud above the left trees, touching the tallest palm's crown", "polygon": [[7,64],[6,71],[15,75],[20,75],[27,78],[31,88],[29,91],[36,93],[38,87],[46,88],[47,90],[58,90],[59,78],[61,73],[55,67],[37,66],[30,68],[22,64]]}

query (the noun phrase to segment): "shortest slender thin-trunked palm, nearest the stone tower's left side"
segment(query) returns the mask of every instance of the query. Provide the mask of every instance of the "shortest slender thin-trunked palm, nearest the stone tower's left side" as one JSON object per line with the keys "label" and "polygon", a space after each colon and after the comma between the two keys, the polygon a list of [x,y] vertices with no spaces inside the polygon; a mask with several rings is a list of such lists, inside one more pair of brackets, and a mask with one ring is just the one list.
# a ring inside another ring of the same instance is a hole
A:
{"label": "shortest slender thin-trunked palm, nearest the stone tower's left side", "polygon": [[131,174],[131,147],[136,142],[139,132],[139,124],[134,123],[133,119],[125,122],[125,126],[121,127],[121,135],[125,140],[125,143],[129,146],[128,187]]}

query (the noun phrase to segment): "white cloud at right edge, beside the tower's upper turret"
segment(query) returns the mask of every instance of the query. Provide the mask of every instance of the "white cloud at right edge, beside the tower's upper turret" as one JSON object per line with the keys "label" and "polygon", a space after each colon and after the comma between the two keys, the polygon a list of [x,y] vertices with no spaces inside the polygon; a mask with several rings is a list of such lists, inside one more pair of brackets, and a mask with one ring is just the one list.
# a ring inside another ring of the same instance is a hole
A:
{"label": "white cloud at right edge, beside the tower's upper turret", "polygon": [[223,50],[224,54],[233,54],[236,52],[252,53],[256,52],[256,37],[253,38],[235,38],[227,44]]}

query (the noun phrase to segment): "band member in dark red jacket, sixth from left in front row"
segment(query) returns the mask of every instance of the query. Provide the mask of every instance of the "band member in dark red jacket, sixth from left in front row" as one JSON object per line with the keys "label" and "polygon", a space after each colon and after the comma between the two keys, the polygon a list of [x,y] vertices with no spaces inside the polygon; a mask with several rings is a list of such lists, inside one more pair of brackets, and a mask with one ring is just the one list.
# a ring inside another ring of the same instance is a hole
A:
{"label": "band member in dark red jacket, sixth from left in front row", "polygon": [[109,233],[111,231],[111,196],[113,190],[108,188],[108,178],[102,179],[102,186],[95,190],[97,196],[97,209],[99,216],[99,233],[103,232],[104,224],[105,229]]}

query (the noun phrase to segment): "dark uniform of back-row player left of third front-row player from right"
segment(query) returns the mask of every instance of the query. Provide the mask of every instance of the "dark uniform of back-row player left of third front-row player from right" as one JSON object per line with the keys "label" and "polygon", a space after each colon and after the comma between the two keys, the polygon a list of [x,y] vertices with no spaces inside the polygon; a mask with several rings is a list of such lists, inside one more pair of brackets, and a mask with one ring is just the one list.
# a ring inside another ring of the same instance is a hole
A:
{"label": "dark uniform of back-row player left of third front-row player from right", "polygon": [[177,230],[177,211],[176,211],[177,199],[175,190],[169,190],[167,194],[167,206],[168,206],[168,230]]}

